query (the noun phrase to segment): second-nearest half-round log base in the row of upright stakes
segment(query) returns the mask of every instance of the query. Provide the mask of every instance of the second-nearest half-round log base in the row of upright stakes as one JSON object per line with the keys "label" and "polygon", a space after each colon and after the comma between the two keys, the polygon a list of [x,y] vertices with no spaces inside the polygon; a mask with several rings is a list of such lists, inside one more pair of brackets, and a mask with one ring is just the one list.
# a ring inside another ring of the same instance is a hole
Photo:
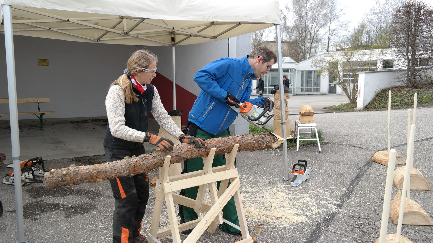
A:
{"label": "second-nearest half-round log base in the row of upright stakes", "polygon": [[[400,212],[401,194],[397,193],[395,198],[391,200],[389,206],[389,218],[393,224],[398,223],[398,214]],[[410,198],[410,204],[404,204],[403,223],[409,225],[433,225],[432,219],[421,208],[421,206]]]}

